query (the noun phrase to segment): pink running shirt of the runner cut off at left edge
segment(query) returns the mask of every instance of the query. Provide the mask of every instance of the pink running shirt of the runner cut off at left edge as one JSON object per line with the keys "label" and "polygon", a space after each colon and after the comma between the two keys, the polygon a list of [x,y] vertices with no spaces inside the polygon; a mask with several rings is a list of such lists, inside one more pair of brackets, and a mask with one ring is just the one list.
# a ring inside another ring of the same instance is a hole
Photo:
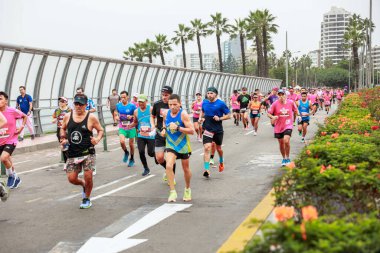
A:
{"label": "pink running shirt of the runner cut off at left edge", "polygon": [[23,113],[15,108],[8,107],[2,112],[7,119],[7,124],[0,128],[0,146],[5,144],[17,144],[16,120],[21,119]]}

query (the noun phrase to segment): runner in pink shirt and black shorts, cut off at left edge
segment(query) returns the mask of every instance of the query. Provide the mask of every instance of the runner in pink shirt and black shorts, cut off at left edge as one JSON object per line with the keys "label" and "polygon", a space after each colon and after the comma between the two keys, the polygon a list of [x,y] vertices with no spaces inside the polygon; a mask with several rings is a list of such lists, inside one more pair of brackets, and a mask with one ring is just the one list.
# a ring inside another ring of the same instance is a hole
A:
{"label": "runner in pink shirt and black shorts, cut off at left edge", "polygon": [[[5,166],[5,172],[8,177],[7,185],[1,183],[0,197],[2,201],[8,198],[8,189],[18,188],[21,178],[17,175],[11,159],[12,153],[17,145],[17,135],[25,127],[27,116],[21,111],[8,107],[8,95],[0,91],[0,159]],[[22,119],[19,128],[16,128],[16,121]],[[4,191],[3,191],[4,190]]]}

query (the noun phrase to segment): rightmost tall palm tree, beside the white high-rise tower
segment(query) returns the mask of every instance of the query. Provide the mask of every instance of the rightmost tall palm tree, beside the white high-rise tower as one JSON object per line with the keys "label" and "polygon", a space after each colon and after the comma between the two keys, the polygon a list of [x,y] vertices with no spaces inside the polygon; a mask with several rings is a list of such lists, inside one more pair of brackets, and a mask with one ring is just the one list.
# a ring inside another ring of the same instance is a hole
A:
{"label": "rightmost tall palm tree, beside the white high-rise tower", "polygon": [[358,50],[365,40],[364,25],[363,20],[360,18],[360,15],[354,14],[352,17],[350,17],[346,32],[344,33],[344,40],[352,50],[352,56],[354,58],[352,79],[354,90],[357,90],[359,77]]}

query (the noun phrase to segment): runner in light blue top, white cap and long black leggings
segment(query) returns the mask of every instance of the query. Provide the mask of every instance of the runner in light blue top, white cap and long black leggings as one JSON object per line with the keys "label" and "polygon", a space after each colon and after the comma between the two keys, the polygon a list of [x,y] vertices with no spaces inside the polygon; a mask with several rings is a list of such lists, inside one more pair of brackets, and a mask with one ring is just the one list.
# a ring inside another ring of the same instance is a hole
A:
{"label": "runner in light blue top, white cap and long black leggings", "polygon": [[144,94],[140,94],[138,99],[139,107],[133,114],[134,125],[137,126],[137,148],[139,149],[140,160],[144,166],[142,176],[150,174],[150,169],[145,157],[145,147],[148,148],[148,155],[154,157],[154,138],[156,135],[156,129],[151,117],[152,108],[147,105],[148,98]]}

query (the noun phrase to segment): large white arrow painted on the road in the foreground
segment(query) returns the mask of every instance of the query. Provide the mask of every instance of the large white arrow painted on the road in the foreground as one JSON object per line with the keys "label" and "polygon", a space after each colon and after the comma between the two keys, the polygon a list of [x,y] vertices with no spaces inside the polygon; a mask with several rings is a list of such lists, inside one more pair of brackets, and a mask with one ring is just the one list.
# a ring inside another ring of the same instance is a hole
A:
{"label": "large white arrow painted on the road in the foreground", "polygon": [[129,239],[130,237],[143,232],[176,212],[185,210],[190,206],[191,204],[163,204],[113,238],[91,237],[77,253],[114,253],[132,248],[147,241],[147,239]]}

